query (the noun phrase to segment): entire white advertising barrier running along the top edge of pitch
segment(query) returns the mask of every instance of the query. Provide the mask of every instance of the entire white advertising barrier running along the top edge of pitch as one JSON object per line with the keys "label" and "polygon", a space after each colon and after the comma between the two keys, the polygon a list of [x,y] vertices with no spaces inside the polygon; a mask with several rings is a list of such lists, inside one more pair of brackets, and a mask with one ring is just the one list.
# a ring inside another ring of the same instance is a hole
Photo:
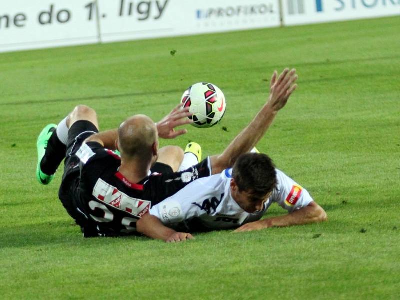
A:
{"label": "entire white advertising barrier running along the top edge of pitch", "polygon": [[1,0],[0,52],[400,15],[400,0]]}

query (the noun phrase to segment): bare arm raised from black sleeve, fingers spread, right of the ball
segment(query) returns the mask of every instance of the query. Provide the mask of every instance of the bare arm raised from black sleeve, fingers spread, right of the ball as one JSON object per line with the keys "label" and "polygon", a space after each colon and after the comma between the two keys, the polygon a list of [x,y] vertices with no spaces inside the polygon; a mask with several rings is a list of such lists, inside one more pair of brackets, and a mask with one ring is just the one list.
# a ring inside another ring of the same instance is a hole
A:
{"label": "bare arm raised from black sleeve, fingers spread, right of the ball", "polygon": [[296,89],[297,74],[295,69],[284,69],[277,76],[274,71],[270,82],[268,101],[257,113],[250,124],[245,127],[223,151],[221,155],[211,157],[212,173],[216,174],[234,164],[236,159],[250,151],[264,136],[276,113],[286,105],[292,92]]}

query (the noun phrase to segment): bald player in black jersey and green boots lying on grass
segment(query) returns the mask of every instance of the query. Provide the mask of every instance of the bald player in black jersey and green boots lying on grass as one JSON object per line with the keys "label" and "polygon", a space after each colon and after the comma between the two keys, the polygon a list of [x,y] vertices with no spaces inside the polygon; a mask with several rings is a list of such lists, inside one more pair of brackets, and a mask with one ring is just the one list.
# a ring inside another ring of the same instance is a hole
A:
{"label": "bald player in black jersey and green boots lying on grass", "polygon": [[[95,111],[79,105],[57,128],[48,125],[39,135],[37,177],[41,183],[49,183],[65,157],[59,198],[81,226],[84,236],[136,232],[136,221],[152,205],[197,178],[221,172],[240,154],[252,149],[296,88],[296,79],[294,69],[290,72],[285,69],[279,78],[274,72],[272,82],[276,84],[271,88],[269,100],[225,151],[181,172],[171,172],[169,167],[173,171],[177,169],[182,151],[169,147],[161,153],[158,135],[173,138],[184,134],[185,130],[175,131],[174,128],[190,122],[186,118],[187,109],[176,107],[157,124],[145,115],[134,115],[118,129],[98,132]],[[120,151],[120,157],[112,152],[115,149]],[[157,159],[166,164],[154,165]],[[161,165],[169,171],[150,174],[152,165]],[[174,234],[178,239],[191,236],[181,232]]]}

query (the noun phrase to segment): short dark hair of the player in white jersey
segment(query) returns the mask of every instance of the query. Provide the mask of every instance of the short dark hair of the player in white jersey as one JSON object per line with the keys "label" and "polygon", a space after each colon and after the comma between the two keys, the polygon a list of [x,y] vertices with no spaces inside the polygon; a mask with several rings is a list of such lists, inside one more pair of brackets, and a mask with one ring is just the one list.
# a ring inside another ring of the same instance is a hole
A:
{"label": "short dark hair of the player in white jersey", "polygon": [[261,198],[272,191],[277,183],[275,166],[266,154],[246,153],[233,165],[232,177],[239,191]]}

